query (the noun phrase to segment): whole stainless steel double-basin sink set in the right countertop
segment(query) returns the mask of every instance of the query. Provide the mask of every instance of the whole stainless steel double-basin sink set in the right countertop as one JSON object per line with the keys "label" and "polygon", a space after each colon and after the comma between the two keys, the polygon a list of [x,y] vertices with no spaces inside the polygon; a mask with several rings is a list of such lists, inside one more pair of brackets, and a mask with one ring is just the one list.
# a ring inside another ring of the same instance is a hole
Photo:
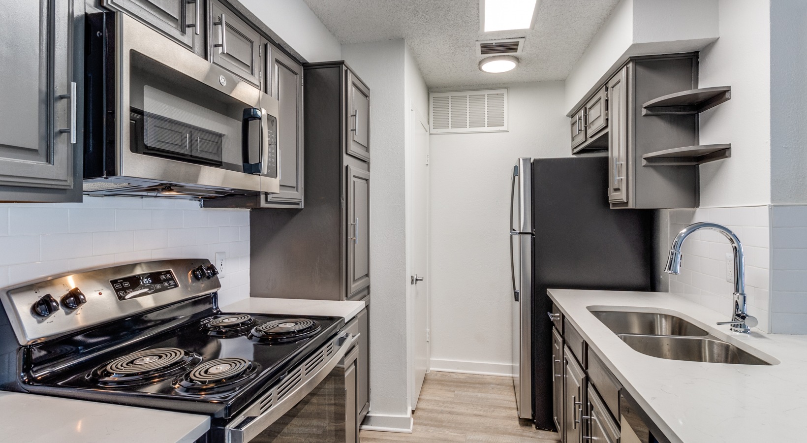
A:
{"label": "whole stainless steel double-basin sink set in the right countertop", "polygon": [[771,364],[680,317],[656,312],[591,312],[625,344],[651,357],[734,365]]}

